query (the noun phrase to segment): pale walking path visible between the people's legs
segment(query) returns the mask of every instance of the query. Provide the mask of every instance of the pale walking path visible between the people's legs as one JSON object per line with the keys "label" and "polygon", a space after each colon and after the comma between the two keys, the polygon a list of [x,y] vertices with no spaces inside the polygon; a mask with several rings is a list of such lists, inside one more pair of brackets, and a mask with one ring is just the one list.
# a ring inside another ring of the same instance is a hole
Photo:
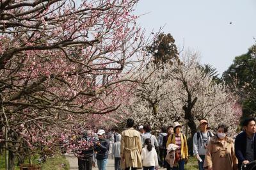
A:
{"label": "pale walking path visible between the people's legs", "polygon": [[[77,157],[75,157],[73,154],[65,154],[65,157],[67,158],[69,162],[70,169],[72,170],[78,170],[78,163],[77,163]],[[97,166],[97,165],[96,165]],[[107,170],[114,170],[115,169],[115,160],[109,158],[108,159],[108,166]],[[93,170],[98,170],[97,167],[93,167]],[[160,168],[159,170],[163,170],[163,168]]]}

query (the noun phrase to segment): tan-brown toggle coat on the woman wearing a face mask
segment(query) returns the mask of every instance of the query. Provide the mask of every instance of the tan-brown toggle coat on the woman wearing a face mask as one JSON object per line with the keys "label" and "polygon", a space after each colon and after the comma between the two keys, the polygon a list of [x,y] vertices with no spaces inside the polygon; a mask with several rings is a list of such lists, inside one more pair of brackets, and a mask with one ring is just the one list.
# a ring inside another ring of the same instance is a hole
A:
{"label": "tan-brown toggle coat on the woman wearing a face mask", "polygon": [[233,170],[237,169],[237,164],[233,139],[225,137],[223,146],[216,136],[211,137],[205,153],[204,167],[212,166],[213,170]]}

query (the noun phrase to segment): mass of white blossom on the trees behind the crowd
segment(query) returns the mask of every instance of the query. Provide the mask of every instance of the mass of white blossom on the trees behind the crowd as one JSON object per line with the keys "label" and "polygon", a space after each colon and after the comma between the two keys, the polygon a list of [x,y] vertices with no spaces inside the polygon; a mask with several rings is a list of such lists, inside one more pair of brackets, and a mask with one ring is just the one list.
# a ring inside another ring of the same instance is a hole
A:
{"label": "mass of white blossom on the trees behind the crowd", "polygon": [[138,72],[136,79],[141,83],[133,91],[130,104],[125,109],[129,109],[140,125],[148,123],[159,128],[171,125],[173,121],[184,125],[189,121],[184,106],[190,107],[189,104],[195,100],[191,116],[196,125],[198,120],[206,118],[211,128],[224,123],[230,128],[230,134],[234,134],[241,116],[236,97],[224,82],[217,84],[202,71],[196,54],[186,55],[189,56],[182,63],[148,64]]}

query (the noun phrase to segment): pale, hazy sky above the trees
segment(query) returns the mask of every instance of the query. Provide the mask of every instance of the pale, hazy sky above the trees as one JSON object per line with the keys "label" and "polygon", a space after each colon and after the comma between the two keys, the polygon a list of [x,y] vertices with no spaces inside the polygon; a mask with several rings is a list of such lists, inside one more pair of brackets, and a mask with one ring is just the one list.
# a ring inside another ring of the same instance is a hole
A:
{"label": "pale, hazy sky above the trees", "polygon": [[138,20],[148,34],[165,25],[177,47],[184,39],[185,48],[198,50],[201,63],[220,74],[255,43],[255,0],[140,0],[135,13],[148,13]]}

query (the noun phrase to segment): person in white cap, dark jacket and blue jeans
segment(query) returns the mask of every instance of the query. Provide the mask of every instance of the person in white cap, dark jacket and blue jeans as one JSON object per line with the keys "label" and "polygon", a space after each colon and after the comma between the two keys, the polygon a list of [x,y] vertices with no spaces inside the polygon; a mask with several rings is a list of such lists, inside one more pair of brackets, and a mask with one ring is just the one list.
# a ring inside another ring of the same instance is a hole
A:
{"label": "person in white cap, dark jacket and blue jeans", "polygon": [[109,141],[105,139],[105,130],[99,129],[97,135],[99,141],[95,143],[94,151],[97,151],[96,159],[99,170],[106,170],[108,164]]}

